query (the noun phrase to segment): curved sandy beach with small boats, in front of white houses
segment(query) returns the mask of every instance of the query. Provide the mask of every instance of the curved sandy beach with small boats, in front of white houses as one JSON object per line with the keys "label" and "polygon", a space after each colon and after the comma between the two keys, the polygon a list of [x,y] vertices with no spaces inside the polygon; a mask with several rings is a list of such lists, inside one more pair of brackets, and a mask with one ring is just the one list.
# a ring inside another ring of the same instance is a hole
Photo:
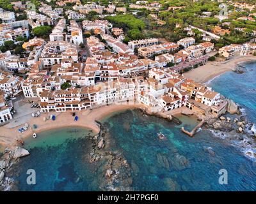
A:
{"label": "curved sandy beach with small boats, in front of white houses", "polygon": [[[25,140],[28,136],[32,136],[33,133],[40,133],[42,131],[47,131],[49,129],[63,128],[63,127],[83,127],[92,129],[92,131],[97,134],[100,131],[99,126],[95,120],[103,119],[104,117],[110,115],[111,113],[120,112],[122,110],[132,109],[132,108],[145,108],[143,105],[110,105],[103,106],[100,108],[95,108],[93,110],[84,110],[76,112],[79,120],[74,121],[72,117],[72,112],[63,113],[42,113],[40,117],[32,118],[27,122],[29,128],[24,133],[19,133],[17,129],[22,128],[22,126],[15,128],[6,128],[5,126],[0,127],[0,145],[3,147],[10,147],[17,143],[17,140]],[[44,122],[44,117],[49,115],[56,115],[56,120],[47,120]],[[38,128],[32,129],[33,124],[36,124]]]}

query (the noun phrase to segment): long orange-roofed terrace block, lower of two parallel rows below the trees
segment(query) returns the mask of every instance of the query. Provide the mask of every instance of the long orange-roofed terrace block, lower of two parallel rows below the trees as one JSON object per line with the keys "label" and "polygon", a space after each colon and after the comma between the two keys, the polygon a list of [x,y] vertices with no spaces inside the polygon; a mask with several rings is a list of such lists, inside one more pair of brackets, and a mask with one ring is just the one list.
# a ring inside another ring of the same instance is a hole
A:
{"label": "long orange-roofed terrace block, lower of two parallel rows below the trees", "polygon": [[151,45],[148,47],[138,48],[138,55],[140,57],[150,58],[153,55],[163,54],[166,52],[173,52],[177,50],[179,46],[175,43],[162,43],[159,45]]}

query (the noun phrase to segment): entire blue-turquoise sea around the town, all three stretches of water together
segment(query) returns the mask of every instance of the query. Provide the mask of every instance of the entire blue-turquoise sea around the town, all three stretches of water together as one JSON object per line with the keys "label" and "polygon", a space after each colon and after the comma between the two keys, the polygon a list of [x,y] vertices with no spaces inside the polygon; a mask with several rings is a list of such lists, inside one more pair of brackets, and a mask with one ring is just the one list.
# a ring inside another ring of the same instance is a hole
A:
{"label": "entire blue-turquoise sea around the town, all three stretches of water together", "polygon": [[[209,85],[234,99],[248,120],[256,122],[256,63],[243,66],[243,74],[230,71]],[[256,163],[239,146],[204,128],[191,138],[180,128],[193,129],[196,118],[179,115],[178,119],[182,124],[125,110],[100,121],[109,134],[109,150],[120,152],[131,166],[134,191],[256,191]],[[157,133],[166,138],[160,140]],[[30,156],[13,164],[7,177],[13,185],[6,189],[100,191],[106,179],[105,161],[88,162],[90,134],[89,129],[62,128],[29,138],[25,148]],[[35,185],[27,182],[31,169],[36,173]]]}

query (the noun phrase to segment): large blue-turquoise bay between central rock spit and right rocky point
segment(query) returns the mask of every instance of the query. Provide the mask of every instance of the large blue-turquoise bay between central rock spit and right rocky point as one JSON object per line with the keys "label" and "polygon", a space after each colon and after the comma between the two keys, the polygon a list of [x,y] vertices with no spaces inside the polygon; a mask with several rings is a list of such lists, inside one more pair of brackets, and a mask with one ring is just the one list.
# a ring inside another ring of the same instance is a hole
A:
{"label": "large blue-turquoise bay between central rock spit and right rocky point", "polygon": [[[182,120],[183,125],[191,127],[191,119]],[[180,126],[136,111],[115,115],[104,124],[115,141],[113,148],[120,150],[132,166],[136,190],[256,190],[256,165],[234,147],[213,138],[209,131],[190,138]],[[159,131],[166,141],[159,140]],[[222,168],[228,171],[228,185],[218,184]]]}

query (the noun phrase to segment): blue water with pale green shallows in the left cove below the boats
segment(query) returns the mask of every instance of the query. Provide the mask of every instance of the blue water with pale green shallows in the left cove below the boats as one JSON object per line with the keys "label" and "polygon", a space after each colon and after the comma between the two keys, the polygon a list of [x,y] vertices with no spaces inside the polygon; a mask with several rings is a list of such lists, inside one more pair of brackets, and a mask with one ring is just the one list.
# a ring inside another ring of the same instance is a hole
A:
{"label": "blue water with pale green shallows in the left cove below the boats", "polygon": [[[64,128],[39,133],[29,138],[25,148],[31,156],[15,164],[11,176],[20,191],[97,191],[98,164],[88,163],[90,140],[88,130]],[[26,171],[36,171],[36,185],[28,185]]]}

